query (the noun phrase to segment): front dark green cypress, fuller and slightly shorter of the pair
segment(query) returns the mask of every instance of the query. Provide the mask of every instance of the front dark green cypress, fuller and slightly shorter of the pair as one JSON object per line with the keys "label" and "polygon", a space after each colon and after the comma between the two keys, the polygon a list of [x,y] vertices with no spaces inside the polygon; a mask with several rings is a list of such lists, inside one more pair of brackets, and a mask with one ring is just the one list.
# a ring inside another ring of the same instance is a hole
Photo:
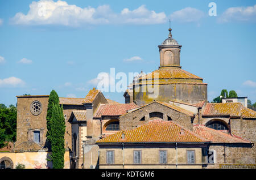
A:
{"label": "front dark green cypress, fuller and slightly shorter of the pair", "polygon": [[63,115],[63,106],[52,103],[52,115],[50,121],[52,153],[49,155],[51,158],[53,169],[64,168],[64,154],[65,154],[65,118]]}

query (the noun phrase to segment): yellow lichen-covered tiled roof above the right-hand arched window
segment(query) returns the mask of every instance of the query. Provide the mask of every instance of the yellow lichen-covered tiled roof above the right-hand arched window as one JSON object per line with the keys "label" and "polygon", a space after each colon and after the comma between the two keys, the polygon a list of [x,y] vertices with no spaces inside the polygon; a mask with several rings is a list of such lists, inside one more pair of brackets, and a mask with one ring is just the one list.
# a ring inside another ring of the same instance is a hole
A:
{"label": "yellow lichen-covered tiled roof above the right-hand arched window", "polygon": [[208,103],[205,106],[203,115],[230,115],[240,116],[240,109],[242,104],[240,102],[229,103]]}

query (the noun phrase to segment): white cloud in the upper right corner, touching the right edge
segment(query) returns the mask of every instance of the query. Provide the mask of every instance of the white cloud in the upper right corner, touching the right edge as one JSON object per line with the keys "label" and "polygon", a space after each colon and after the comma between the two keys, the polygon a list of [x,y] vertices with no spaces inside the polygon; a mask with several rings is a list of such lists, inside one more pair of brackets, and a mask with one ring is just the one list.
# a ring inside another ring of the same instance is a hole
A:
{"label": "white cloud in the upper right corner, touching the right edge", "polygon": [[218,18],[218,22],[256,22],[256,5],[247,7],[230,7]]}

